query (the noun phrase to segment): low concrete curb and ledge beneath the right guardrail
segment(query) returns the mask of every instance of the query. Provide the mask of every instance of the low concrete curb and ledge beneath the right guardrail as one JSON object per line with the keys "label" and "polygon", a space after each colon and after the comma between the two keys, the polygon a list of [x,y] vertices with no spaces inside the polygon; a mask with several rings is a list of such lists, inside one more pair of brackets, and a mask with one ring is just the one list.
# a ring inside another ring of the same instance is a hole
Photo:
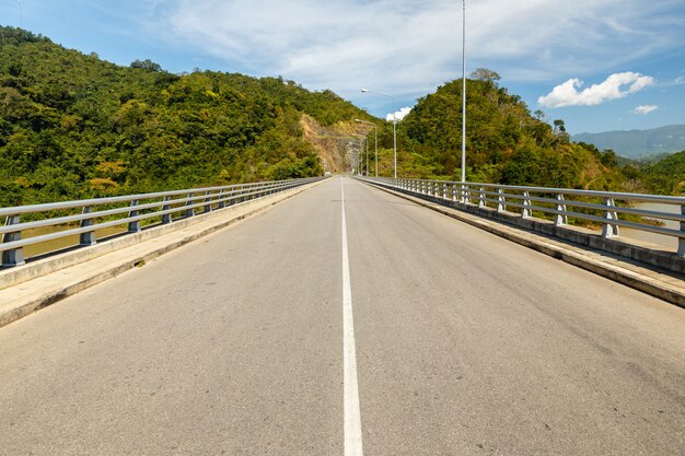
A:
{"label": "low concrete curb and ledge beneath the right guardrail", "polygon": [[[568,243],[565,244],[561,241],[548,239],[539,233],[527,232],[521,227],[513,227],[496,221],[479,219],[476,215],[467,214],[458,209],[450,208],[438,202],[426,201],[419,197],[391,190],[373,183],[365,184],[685,308],[685,282],[678,281],[675,278],[664,280],[657,277],[664,274],[653,270],[649,265],[635,266],[629,265],[627,261],[623,261],[622,265],[619,257],[609,256],[609,254],[605,252],[591,250],[589,247],[580,245],[567,245]],[[649,273],[650,271],[654,273]],[[680,284],[677,282],[680,282]]]}

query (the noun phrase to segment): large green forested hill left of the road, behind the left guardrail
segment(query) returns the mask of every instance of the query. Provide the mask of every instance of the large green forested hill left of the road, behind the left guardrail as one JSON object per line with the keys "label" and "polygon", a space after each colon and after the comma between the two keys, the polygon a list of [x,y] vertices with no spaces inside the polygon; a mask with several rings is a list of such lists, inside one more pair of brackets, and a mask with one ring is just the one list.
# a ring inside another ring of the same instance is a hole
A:
{"label": "large green forested hill left of the road, behind the left guardrail", "polygon": [[321,175],[302,114],[370,118],[280,78],[119,67],[0,27],[0,206]]}

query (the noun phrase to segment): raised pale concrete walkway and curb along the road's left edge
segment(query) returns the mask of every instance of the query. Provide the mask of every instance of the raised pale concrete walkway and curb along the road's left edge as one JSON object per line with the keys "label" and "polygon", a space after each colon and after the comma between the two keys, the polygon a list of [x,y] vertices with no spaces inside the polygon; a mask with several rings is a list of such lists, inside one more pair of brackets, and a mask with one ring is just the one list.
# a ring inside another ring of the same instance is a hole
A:
{"label": "raised pale concrete walkway and curb along the road's left edge", "polygon": [[[101,253],[91,260],[57,268],[47,274],[35,277],[33,280],[22,281],[21,283],[0,290],[0,327],[16,321],[40,308],[55,304],[65,297],[71,296],[107,279],[112,279],[129,269],[144,265],[146,261],[197,241],[200,237],[212,234],[248,217],[267,211],[279,202],[306,191],[323,182],[324,180],[320,180],[307,184],[302,187],[286,190],[281,194],[211,212],[207,214],[207,218],[191,225],[178,226],[173,232],[165,233],[175,235],[173,239],[166,241],[163,238],[164,234],[162,234],[114,252],[111,246],[105,246],[103,248],[108,248],[108,253]],[[220,215],[224,218],[219,220]],[[193,231],[198,224],[212,221],[216,221],[216,223],[201,226],[199,231]],[[184,231],[188,233],[183,234],[182,232]],[[104,246],[108,242],[102,243],[102,245]],[[85,249],[88,248],[89,247],[85,247]],[[103,262],[103,265],[95,265],[96,262]]]}

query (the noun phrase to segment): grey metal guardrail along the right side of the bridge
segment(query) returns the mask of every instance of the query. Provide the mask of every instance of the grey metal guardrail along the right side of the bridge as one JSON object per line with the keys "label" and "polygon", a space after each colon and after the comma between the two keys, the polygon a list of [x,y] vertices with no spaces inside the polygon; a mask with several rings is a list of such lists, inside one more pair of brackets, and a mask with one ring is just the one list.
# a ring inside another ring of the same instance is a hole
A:
{"label": "grey metal guardrail along the right side of the bridge", "polygon": [[[568,188],[524,187],[498,184],[461,183],[427,179],[393,179],[386,177],[359,177],[388,188],[397,188],[416,195],[441,198],[457,204],[479,208],[490,207],[498,212],[518,212],[532,218],[534,212],[552,214],[555,225],[566,225],[576,218],[602,226],[602,237],[618,235],[619,226],[658,233],[677,239],[676,255],[685,257],[685,197],[622,194],[613,191],[573,190]],[[674,212],[643,210],[632,207],[635,202],[672,204]],[[569,210],[572,208],[574,210]],[[585,212],[580,212],[585,210]],[[641,221],[622,220],[620,215],[638,215]],[[678,229],[645,223],[646,219],[680,222]]]}

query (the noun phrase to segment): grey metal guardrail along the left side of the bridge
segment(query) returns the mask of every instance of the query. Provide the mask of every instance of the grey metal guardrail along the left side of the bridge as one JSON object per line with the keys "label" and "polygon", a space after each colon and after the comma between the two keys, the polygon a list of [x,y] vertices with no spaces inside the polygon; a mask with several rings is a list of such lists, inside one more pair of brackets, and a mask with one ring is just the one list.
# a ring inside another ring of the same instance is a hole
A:
{"label": "grey metal guardrail along the left side of the bridge", "polygon": [[[137,233],[142,231],[141,222],[144,221],[153,225],[169,224],[175,220],[211,212],[318,179],[321,177],[0,208],[0,218],[5,220],[4,225],[0,226],[2,266],[23,265],[25,262],[23,247],[28,245],[73,235],[79,235],[78,246],[94,245],[97,243],[95,233],[97,230],[124,225],[127,226],[127,233]],[[60,215],[49,215],[56,212]],[[48,217],[31,222],[21,221],[22,215],[34,213],[46,213]],[[22,232],[27,230],[74,224],[78,226],[22,238]]]}

